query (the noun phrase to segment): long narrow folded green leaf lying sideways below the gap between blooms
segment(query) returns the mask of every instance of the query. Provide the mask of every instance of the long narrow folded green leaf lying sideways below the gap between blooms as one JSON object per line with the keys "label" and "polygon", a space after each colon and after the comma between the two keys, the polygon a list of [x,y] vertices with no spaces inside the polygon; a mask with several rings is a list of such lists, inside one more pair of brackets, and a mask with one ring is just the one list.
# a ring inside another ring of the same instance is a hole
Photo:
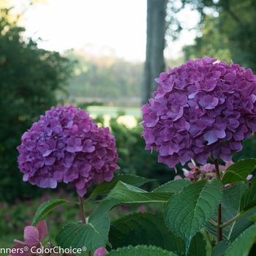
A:
{"label": "long narrow folded green leaf lying sideways below the gap between blooms", "polygon": [[132,185],[118,181],[107,198],[116,198],[120,203],[166,203],[173,193],[169,192],[147,192]]}

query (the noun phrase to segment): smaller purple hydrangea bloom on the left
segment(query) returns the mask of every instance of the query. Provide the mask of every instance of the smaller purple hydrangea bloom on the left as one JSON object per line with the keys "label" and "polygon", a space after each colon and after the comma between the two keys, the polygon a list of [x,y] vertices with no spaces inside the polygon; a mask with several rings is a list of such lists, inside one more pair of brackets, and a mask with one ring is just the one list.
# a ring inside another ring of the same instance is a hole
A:
{"label": "smaller purple hydrangea bloom on the left", "polygon": [[108,128],[97,127],[85,110],[72,105],[46,111],[21,138],[18,164],[23,181],[55,188],[57,182],[86,188],[110,181],[118,169],[116,142]]}

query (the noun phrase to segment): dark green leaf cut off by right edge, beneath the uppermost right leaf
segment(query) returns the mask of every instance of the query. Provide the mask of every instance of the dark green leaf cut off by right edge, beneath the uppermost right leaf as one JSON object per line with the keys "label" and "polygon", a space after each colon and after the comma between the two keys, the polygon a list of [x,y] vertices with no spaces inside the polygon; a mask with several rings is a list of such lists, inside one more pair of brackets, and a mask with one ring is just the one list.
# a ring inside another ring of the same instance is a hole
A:
{"label": "dark green leaf cut off by right edge, beneath the uppermost right leaf", "polygon": [[256,177],[252,178],[250,187],[247,189],[241,198],[241,211],[246,211],[249,208],[256,206]]}

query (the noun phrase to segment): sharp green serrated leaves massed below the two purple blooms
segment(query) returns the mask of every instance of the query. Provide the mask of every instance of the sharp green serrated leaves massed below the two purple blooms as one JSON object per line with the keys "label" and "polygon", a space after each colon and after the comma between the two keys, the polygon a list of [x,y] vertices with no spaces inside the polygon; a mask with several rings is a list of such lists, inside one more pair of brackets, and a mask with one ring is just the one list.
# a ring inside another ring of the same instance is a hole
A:
{"label": "sharp green serrated leaves massed below the two purple blooms", "polygon": [[[248,186],[246,177],[255,169],[256,159],[236,162],[217,178],[195,183],[176,179],[148,192],[140,186],[146,178],[122,174],[104,181],[91,197],[105,195],[86,223],[73,222],[62,227],[56,243],[62,248],[93,251],[107,246],[110,255],[206,255],[206,230],[212,243],[212,255],[248,255],[256,241],[256,178]],[[228,188],[224,185],[230,184]],[[90,197],[87,200],[89,200]],[[43,203],[35,214],[36,225],[48,211],[67,200]],[[163,211],[155,214],[133,213],[110,222],[108,212],[118,205],[162,203]],[[218,235],[217,208],[222,207],[223,240]],[[149,250],[151,252],[149,252]],[[152,254],[153,253],[153,254]]]}

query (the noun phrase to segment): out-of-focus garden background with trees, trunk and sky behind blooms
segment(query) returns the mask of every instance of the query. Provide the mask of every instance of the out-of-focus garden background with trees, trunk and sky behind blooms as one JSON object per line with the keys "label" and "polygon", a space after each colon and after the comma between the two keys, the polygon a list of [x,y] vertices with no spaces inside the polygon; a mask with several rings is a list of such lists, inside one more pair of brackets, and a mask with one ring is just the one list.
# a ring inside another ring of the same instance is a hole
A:
{"label": "out-of-focus garden background with trees, trunk and sky behind blooms", "polygon": [[[140,136],[140,108],[157,89],[159,73],[203,56],[256,72],[255,0],[0,0],[0,8],[0,229],[5,233],[32,218],[17,214],[20,202],[39,201],[50,192],[22,181],[16,147],[51,106],[73,104],[110,126],[118,172],[155,178],[149,190],[176,175],[157,163],[156,152],[144,150]],[[255,149],[254,140],[246,141],[234,160],[255,157]]]}

